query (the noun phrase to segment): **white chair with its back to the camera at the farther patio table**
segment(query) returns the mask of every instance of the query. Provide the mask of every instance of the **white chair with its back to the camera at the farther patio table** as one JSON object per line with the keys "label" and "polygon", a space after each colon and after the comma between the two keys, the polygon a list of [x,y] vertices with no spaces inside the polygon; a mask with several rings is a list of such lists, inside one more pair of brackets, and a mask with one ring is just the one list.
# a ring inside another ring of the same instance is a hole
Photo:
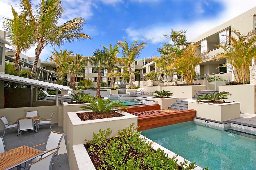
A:
{"label": "white chair with its back to the camera at the farther patio table", "polygon": [[[35,122],[36,123],[36,122]],[[18,119],[18,138],[21,132],[33,130],[34,136],[35,136],[35,129],[34,129],[34,120],[33,118],[26,118],[26,119]]]}

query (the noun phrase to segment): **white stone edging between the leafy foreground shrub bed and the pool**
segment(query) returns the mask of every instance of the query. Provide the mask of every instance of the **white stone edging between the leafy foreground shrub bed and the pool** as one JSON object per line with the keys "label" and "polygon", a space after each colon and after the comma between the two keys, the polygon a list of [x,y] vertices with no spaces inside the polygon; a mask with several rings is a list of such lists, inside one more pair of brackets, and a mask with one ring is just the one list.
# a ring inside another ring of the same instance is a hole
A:
{"label": "white stone edging between the leafy foreground shrub bed and the pool", "polygon": [[[180,162],[184,163],[185,161],[187,161],[187,162],[188,162],[187,165],[191,163],[190,161],[186,160],[185,158],[183,158],[183,157],[177,155],[176,153],[170,151],[169,149],[166,149],[165,147],[159,145],[158,143],[154,142],[153,140],[150,140],[150,139],[146,138],[146,137],[143,136],[143,135],[140,135],[140,138],[145,138],[145,139],[146,139],[146,143],[147,143],[147,142],[150,142],[150,143],[153,142],[152,148],[153,148],[155,151],[156,151],[157,149],[163,150],[164,153],[165,153],[165,156],[166,156],[167,158],[173,158],[173,156],[174,156],[174,157],[176,156],[176,158],[175,158],[174,160],[177,160],[177,164],[178,164],[179,166],[181,166],[181,165],[180,165]],[[198,166],[198,165],[196,165],[196,167],[193,168],[193,170],[202,170],[202,169],[203,169],[203,168],[201,168],[201,167]]]}

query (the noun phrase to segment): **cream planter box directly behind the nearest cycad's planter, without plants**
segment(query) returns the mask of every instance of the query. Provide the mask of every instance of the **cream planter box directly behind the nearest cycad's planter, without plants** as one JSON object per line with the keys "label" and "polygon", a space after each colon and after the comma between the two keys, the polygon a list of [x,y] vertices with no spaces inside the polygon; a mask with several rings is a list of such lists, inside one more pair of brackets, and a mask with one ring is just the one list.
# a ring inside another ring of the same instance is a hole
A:
{"label": "cream planter box directly behind the nearest cycad's planter, without plants", "polygon": [[64,101],[62,102],[62,126],[63,126],[63,132],[67,133],[67,117],[68,112],[76,112],[76,111],[82,111],[83,109],[80,109],[81,106],[86,106],[90,103],[84,103],[84,104],[68,104],[68,102]]}

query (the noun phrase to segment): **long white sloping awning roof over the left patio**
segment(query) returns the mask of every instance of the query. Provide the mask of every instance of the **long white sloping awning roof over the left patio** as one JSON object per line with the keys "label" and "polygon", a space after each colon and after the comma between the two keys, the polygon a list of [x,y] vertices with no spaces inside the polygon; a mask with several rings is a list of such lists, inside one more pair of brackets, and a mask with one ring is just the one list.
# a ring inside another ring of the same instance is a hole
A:
{"label": "long white sloping awning roof over the left patio", "polygon": [[25,84],[25,85],[29,85],[29,86],[73,91],[73,89],[68,87],[68,86],[43,82],[43,81],[40,81],[40,80],[28,79],[28,78],[25,78],[25,77],[19,77],[19,76],[15,76],[15,75],[5,74],[3,72],[0,72],[0,80]]}

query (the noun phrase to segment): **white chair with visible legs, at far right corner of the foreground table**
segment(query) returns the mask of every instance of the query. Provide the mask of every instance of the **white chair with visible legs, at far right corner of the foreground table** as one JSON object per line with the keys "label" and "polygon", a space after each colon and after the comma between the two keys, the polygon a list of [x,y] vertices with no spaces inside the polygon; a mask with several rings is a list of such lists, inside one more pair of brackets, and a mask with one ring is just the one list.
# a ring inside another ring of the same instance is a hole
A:
{"label": "white chair with visible legs, at far right corner of the foreground table", "polygon": [[[45,147],[45,151],[44,152],[52,150],[53,148],[58,148],[58,149],[55,149],[55,150],[57,151],[56,155],[57,155],[58,163],[60,165],[60,161],[59,161],[59,146],[60,146],[60,141],[63,138],[63,136],[64,136],[64,133],[51,131],[51,133],[50,133],[46,143],[42,143],[42,144],[33,146],[32,148],[35,148],[35,147],[38,147],[38,146],[41,146],[41,145],[45,145],[45,144],[46,144],[46,147]],[[55,151],[55,150],[53,150],[53,151]],[[44,156],[47,156],[47,154],[44,154],[43,157]],[[40,156],[36,157],[33,161],[37,161],[39,159],[40,159]]]}

